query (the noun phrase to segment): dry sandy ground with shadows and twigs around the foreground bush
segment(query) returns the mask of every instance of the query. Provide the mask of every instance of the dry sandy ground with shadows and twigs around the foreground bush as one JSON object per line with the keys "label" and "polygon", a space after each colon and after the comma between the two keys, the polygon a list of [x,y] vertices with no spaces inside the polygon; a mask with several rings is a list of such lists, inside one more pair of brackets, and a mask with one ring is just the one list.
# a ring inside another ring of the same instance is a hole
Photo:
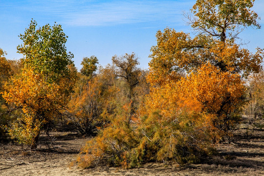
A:
{"label": "dry sandy ground with shadows and twigs around the foreground bush", "polygon": [[70,167],[87,140],[70,132],[52,132],[53,145],[41,136],[38,150],[18,144],[0,144],[0,176],[264,176],[264,131],[245,135],[237,131],[231,144],[218,144],[219,154],[200,164],[147,163],[124,170],[114,167]]}

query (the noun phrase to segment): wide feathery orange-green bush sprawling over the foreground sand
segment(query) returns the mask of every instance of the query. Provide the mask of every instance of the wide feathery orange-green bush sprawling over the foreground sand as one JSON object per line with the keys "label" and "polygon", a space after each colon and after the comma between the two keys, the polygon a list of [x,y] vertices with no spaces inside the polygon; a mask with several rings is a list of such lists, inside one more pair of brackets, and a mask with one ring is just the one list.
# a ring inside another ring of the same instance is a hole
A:
{"label": "wide feathery orange-green bush sprawling over the foreground sand", "polygon": [[182,164],[210,153],[213,115],[202,113],[198,100],[179,97],[178,88],[155,90],[129,125],[130,107],[123,106],[110,125],[87,142],[77,160],[80,166],[107,163],[132,168],[169,160]]}

